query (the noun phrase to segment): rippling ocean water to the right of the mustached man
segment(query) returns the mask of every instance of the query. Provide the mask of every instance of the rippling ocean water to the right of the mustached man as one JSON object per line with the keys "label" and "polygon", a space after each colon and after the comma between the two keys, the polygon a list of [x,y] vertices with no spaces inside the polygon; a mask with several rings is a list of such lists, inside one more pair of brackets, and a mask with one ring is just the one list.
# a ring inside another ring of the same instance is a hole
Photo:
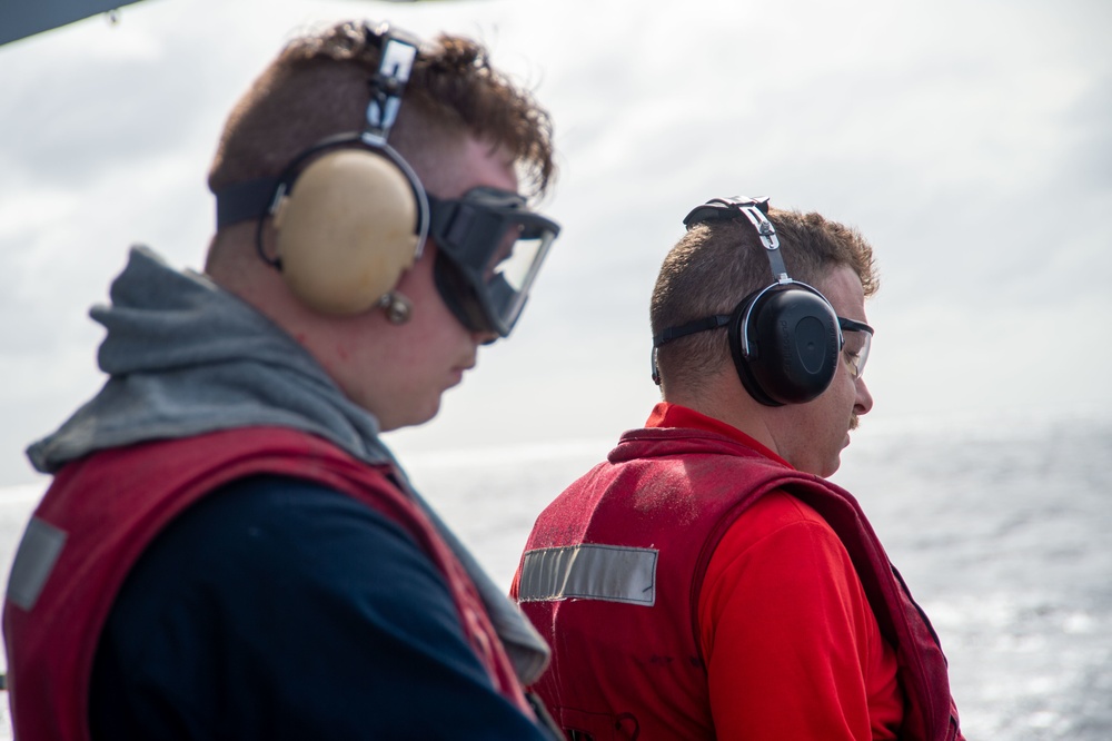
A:
{"label": "rippling ocean water to the right of the mustached man", "polygon": [[905,433],[860,497],[950,659],[970,739],[1112,739],[1112,419]]}

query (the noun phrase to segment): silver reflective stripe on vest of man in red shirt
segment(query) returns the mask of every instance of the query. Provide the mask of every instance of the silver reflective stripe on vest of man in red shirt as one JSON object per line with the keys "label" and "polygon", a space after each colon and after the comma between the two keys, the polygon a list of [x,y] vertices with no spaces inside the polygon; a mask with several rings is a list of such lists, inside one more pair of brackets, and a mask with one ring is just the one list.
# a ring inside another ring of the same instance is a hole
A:
{"label": "silver reflective stripe on vest of man in red shirt", "polygon": [[526,551],[517,587],[520,602],[605,600],[656,602],[656,549],[584,543]]}

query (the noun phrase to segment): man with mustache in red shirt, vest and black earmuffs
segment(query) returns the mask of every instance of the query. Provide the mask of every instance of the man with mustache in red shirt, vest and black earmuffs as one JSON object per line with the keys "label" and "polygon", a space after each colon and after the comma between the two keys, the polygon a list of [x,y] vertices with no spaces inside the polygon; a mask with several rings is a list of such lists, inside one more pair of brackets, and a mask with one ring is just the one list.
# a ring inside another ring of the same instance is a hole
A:
{"label": "man with mustache in red shirt, vest and black earmuffs", "polygon": [[[714,199],[652,300],[644,429],[537,520],[514,594],[572,739],[957,739],[945,659],[853,497],[871,247]],[[771,269],[770,269],[771,268]]]}

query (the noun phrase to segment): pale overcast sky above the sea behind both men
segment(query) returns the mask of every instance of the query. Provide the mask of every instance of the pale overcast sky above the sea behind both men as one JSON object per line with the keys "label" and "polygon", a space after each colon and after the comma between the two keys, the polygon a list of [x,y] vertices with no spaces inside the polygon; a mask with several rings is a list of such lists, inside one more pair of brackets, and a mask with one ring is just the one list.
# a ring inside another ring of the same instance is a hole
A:
{"label": "pale overcast sky above the sea behind both men", "polygon": [[[1112,412],[1112,6],[1101,0],[147,0],[0,47],[0,486],[103,383],[127,249],[199,268],[224,119],[299,28],[483,40],[550,111],[564,230],[508,342],[403,455],[600,451],[657,401],[682,219],[770,196],[857,227],[881,290],[858,434]],[[868,432],[872,429],[873,432]]]}

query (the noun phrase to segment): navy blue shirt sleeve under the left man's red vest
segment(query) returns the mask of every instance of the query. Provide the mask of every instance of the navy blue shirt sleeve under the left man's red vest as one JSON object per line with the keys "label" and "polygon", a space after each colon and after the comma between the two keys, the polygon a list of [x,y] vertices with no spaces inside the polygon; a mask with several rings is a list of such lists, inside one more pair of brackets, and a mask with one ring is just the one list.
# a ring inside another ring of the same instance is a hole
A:
{"label": "navy blue shirt sleeve under the left man's red vest", "polygon": [[140,556],[97,649],[93,739],[545,739],[447,584],[370,507],[296,478],[205,497]]}

